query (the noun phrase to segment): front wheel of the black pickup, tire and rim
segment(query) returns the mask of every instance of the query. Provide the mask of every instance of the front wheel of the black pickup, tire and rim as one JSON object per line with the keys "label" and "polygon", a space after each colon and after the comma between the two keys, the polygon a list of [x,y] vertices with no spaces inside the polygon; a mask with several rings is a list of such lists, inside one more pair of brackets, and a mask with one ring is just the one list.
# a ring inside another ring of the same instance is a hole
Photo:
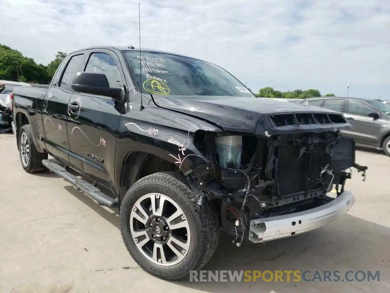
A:
{"label": "front wheel of the black pickup, tire and rim", "polygon": [[143,270],[178,280],[209,261],[218,244],[217,217],[207,201],[198,212],[196,204],[179,173],[155,173],[131,186],[119,212],[121,233]]}

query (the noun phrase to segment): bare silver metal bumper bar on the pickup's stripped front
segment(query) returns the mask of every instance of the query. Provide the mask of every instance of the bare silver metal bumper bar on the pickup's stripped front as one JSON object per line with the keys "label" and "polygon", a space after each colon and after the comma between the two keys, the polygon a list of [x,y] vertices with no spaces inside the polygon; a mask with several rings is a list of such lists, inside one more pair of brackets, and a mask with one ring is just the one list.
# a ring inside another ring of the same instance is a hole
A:
{"label": "bare silver metal bumper bar on the pickup's stripped front", "polygon": [[286,238],[317,229],[346,214],[355,203],[350,191],[307,211],[250,221],[249,240],[255,243]]}

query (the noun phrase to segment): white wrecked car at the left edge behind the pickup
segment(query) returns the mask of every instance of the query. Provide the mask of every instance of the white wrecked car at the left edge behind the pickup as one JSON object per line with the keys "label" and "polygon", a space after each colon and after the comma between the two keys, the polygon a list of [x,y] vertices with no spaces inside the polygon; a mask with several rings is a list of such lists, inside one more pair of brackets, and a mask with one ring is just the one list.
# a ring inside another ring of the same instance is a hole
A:
{"label": "white wrecked car at the left edge behind the pickup", "polygon": [[12,130],[11,98],[15,86],[30,86],[26,82],[0,80],[0,133]]}

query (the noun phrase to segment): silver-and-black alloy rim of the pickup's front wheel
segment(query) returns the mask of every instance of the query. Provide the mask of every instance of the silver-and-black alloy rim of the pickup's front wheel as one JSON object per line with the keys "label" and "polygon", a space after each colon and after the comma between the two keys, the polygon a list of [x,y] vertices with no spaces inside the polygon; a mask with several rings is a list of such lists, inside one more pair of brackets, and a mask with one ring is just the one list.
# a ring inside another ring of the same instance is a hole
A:
{"label": "silver-and-black alloy rim of the pickup's front wheel", "polygon": [[161,193],[148,193],[130,213],[131,238],[152,263],[173,266],[183,261],[191,243],[190,225],[179,205]]}

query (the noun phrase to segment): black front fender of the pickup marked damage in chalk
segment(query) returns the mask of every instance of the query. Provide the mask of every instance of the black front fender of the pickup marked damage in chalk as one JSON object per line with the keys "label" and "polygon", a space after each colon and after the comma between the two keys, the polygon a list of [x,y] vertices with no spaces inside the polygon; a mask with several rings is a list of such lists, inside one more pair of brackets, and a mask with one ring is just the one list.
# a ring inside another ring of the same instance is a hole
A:
{"label": "black front fender of the pickup marked damage in chalk", "polygon": [[199,129],[221,132],[206,121],[158,108],[122,114],[115,157],[115,189],[119,191],[123,165],[132,152],[156,155],[184,173],[209,163],[193,144],[193,133]]}

